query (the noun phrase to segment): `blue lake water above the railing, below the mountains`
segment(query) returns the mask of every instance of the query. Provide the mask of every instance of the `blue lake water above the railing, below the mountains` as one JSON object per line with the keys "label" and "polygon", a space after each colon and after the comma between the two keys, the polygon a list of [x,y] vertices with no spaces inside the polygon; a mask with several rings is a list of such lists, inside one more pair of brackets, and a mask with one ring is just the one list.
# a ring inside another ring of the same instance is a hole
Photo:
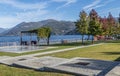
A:
{"label": "blue lake water above the railing, below the mountains", "polygon": [[[87,35],[84,35],[84,40],[88,38]],[[23,41],[37,41],[37,36],[23,36]],[[81,40],[81,35],[52,35],[50,41],[61,41],[61,40]],[[92,36],[90,36],[90,40]],[[1,36],[0,42],[20,42],[20,36]]]}

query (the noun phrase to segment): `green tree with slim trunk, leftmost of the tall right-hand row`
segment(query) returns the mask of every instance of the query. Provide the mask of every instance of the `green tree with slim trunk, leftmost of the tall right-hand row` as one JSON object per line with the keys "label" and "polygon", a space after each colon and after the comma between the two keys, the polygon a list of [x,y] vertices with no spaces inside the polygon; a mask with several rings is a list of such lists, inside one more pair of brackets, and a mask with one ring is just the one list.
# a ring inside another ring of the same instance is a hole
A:
{"label": "green tree with slim trunk, leftmost of the tall right-hand row", "polygon": [[76,22],[76,29],[82,35],[82,44],[84,35],[88,33],[88,17],[85,11],[80,12],[80,19]]}

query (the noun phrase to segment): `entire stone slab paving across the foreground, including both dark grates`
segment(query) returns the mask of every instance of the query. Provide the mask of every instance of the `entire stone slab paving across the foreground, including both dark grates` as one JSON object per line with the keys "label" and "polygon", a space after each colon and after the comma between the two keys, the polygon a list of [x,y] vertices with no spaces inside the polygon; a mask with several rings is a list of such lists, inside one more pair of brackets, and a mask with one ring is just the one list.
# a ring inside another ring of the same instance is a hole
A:
{"label": "entire stone slab paving across the foreground, including both dark grates", "polygon": [[[39,71],[63,72],[84,76],[120,76],[120,62],[95,60],[90,58],[57,58],[57,57],[7,57],[1,56],[0,63],[34,69]],[[117,65],[119,63],[119,65]],[[116,66],[117,65],[117,66]]]}

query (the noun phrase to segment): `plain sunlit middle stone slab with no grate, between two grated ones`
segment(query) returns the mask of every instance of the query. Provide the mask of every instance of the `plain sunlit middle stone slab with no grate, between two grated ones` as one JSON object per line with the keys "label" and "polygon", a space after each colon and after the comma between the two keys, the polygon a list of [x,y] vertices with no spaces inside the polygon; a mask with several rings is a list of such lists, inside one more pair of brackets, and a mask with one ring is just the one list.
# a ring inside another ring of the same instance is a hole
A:
{"label": "plain sunlit middle stone slab with no grate, between two grated ones", "polygon": [[43,70],[44,67],[53,66],[53,65],[65,62],[67,60],[68,59],[65,59],[65,58],[45,56],[45,57],[40,57],[36,59],[14,62],[13,65],[17,67],[24,67],[24,68],[30,68],[30,69],[32,68],[35,70],[38,70],[38,69]]}

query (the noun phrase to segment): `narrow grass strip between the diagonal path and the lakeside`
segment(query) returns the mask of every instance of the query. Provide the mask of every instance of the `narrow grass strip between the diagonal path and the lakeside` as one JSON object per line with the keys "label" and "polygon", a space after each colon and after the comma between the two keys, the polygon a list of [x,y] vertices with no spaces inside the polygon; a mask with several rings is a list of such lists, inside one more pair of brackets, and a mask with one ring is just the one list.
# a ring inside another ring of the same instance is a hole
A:
{"label": "narrow grass strip between the diagonal path and the lakeside", "polygon": [[[89,45],[90,42],[86,42],[85,45]],[[31,52],[25,52],[25,53],[10,53],[10,52],[0,52],[0,56],[20,56],[20,55],[28,55],[28,54],[35,54],[35,53],[41,53],[41,52],[47,52],[47,51],[53,51],[53,50],[60,50],[60,49],[65,49],[65,48],[72,48],[75,46],[81,46],[81,43],[67,43],[67,44],[55,44],[55,45],[50,45],[51,47],[56,47],[56,48],[51,48],[51,49],[46,49],[46,50],[37,50],[37,51],[31,51]]]}

